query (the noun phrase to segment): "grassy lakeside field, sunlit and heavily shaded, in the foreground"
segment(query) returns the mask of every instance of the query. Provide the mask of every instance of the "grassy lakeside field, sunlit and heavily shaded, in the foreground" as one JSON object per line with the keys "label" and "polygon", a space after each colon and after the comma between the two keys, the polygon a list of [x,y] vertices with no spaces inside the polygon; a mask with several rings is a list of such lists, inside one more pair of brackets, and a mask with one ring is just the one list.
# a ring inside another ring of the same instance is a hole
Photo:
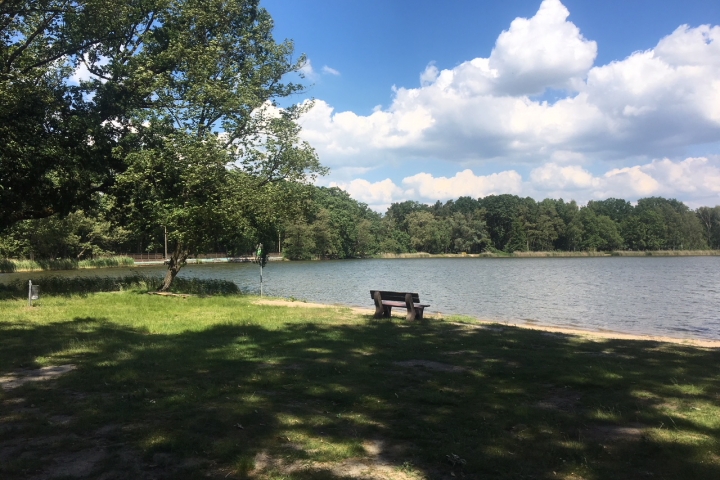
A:
{"label": "grassy lakeside field, sunlit and heavily shaded, in the foreground", "polygon": [[718,349],[257,300],[0,301],[0,478],[720,478]]}

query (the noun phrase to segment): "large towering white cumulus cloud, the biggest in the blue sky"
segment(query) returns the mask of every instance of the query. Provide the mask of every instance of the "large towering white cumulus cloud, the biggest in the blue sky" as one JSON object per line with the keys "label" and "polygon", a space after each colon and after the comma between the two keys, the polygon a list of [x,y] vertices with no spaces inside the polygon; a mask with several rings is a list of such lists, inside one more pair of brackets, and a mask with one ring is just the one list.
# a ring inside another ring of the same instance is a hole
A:
{"label": "large towering white cumulus cloud, the biggest in the blue sky", "polygon": [[[593,66],[597,45],[568,15],[560,0],[544,0],[499,34],[489,56],[451,69],[430,63],[419,87],[396,88],[370,115],[318,100],[303,135],[327,165],[368,168],[417,158],[461,168],[618,164],[720,141],[720,27],[684,25],[651,50]],[[535,96],[548,88],[566,93]]]}

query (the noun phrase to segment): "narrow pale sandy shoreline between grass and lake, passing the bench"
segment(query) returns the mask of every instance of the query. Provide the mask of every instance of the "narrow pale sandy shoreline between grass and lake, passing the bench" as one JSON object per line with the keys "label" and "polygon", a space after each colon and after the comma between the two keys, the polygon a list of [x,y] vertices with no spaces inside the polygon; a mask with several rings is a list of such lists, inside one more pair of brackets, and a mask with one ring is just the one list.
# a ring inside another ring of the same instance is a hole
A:
{"label": "narrow pale sandy shoreline between grass and lake, passing the bench", "polygon": [[[276,306],[276,307],[295,307],[295,308],[347,308],[350,309],[351,312],[360,314],[360,315],[372,315],[374,313],[373,308],[362,308],[362,307],[353,307],[348,305],[340,305],[340,304],[327,304],[327,303],[313,303],[313,302],[302,302],[302,301],[292,301],[292,300],[285,300],[285,299],[259,299],[253,302],[256,305],[268,305],[268,306]],[[400,310],[398,310],[399,312]],[[404,317],[404,313],[402,315],[393,315],[397,318]],[[636,340],[636,341],[650,341],[650,342],[662,342],[662,343],[672,343],[676,345],[685,345],[685,346],[692,346],[692,347],[701,347],[701,348],[720,348],[720,340],[704,340],[704,339],[697,339],[697,338],[680,338],[680,337],[669,337],[665,335],[643,335],[643,334],[636,334],[636,333],[626,333],[626,332],[616,332],[616,331],[610,331],[610,330],[587,330],[582,328],[575,328],[575,327],[558,327],[553,325],[543,325],[543,324],[535,324],[535,323],[510,323],[508,322],[501,322],[501,321],[495,321],[495,320],[487,320],[482,318],[476,318],[472,317],[470,315],[463,315],[468,318],[472,318],[475,320],[476,323],[462,323],[462,322],[454,322],[457,325],[464,325],[467,327],[473,327],[473,326],[486,326],[486,325],[499,325],[502,327],[516,327],[516,328],[522,328],[525,330],[535,330],[537,332],[544,332],[544,333],[551,333],[551,334],[562,334],[562,335],[574,335],[574,336],[582,336],[587,337],[591,340],[596,339],[607,339],[607,340]],[[428,319],[443,319],[444,316],[442,312],[426,315],[426,318]]]}

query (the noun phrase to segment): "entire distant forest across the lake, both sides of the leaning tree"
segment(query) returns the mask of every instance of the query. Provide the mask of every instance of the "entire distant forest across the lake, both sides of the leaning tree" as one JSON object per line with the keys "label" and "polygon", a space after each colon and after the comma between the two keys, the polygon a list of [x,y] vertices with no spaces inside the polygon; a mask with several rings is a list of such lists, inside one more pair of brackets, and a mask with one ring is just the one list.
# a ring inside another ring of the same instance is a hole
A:
{"label": "entire distant forest across the lake, both sides of the leaning tree", "polygon": [[[218,235],[215,252],[243,255],[263,241],[291,260],[359,258],[381,253],[720,249],[720,206],[691,210],[661,197],[590,201],[516,195],[460,197],[426,205],[393,203],[384,215],[338,188],[311,187],[302,212],[234,236]],[[91,258],[163,251],[163,229],[130,231],[110,205],[66,217],[26,220],[0,237],[4,258]],[[210,253],[210,252],[195,252]]]}

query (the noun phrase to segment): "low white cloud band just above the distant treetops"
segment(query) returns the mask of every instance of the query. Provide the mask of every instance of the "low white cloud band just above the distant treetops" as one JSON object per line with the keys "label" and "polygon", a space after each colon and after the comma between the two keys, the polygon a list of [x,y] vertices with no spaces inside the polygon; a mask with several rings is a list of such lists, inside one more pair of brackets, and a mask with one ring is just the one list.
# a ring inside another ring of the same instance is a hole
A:
{"label": "low white cloud band just above the distant treetops", "polygon": [[613,168],[594,175],[579,165],[553,162],[534,168],[526,179],[515,170],[475,175],[466,169],[453,177],[418,173],[396,184],[387,178],[379,182],[355,179],[333,182],[353,198],[384,212],[394,202],[419,200],[434,203],[461,196],[513,194],[536,200],[564,198],[586,203],[610,197],[637,200],[642,197],[680,198],[691,207],[720,203],[720,156],[690,157],[681,161],[653,160],[643,165]]}

